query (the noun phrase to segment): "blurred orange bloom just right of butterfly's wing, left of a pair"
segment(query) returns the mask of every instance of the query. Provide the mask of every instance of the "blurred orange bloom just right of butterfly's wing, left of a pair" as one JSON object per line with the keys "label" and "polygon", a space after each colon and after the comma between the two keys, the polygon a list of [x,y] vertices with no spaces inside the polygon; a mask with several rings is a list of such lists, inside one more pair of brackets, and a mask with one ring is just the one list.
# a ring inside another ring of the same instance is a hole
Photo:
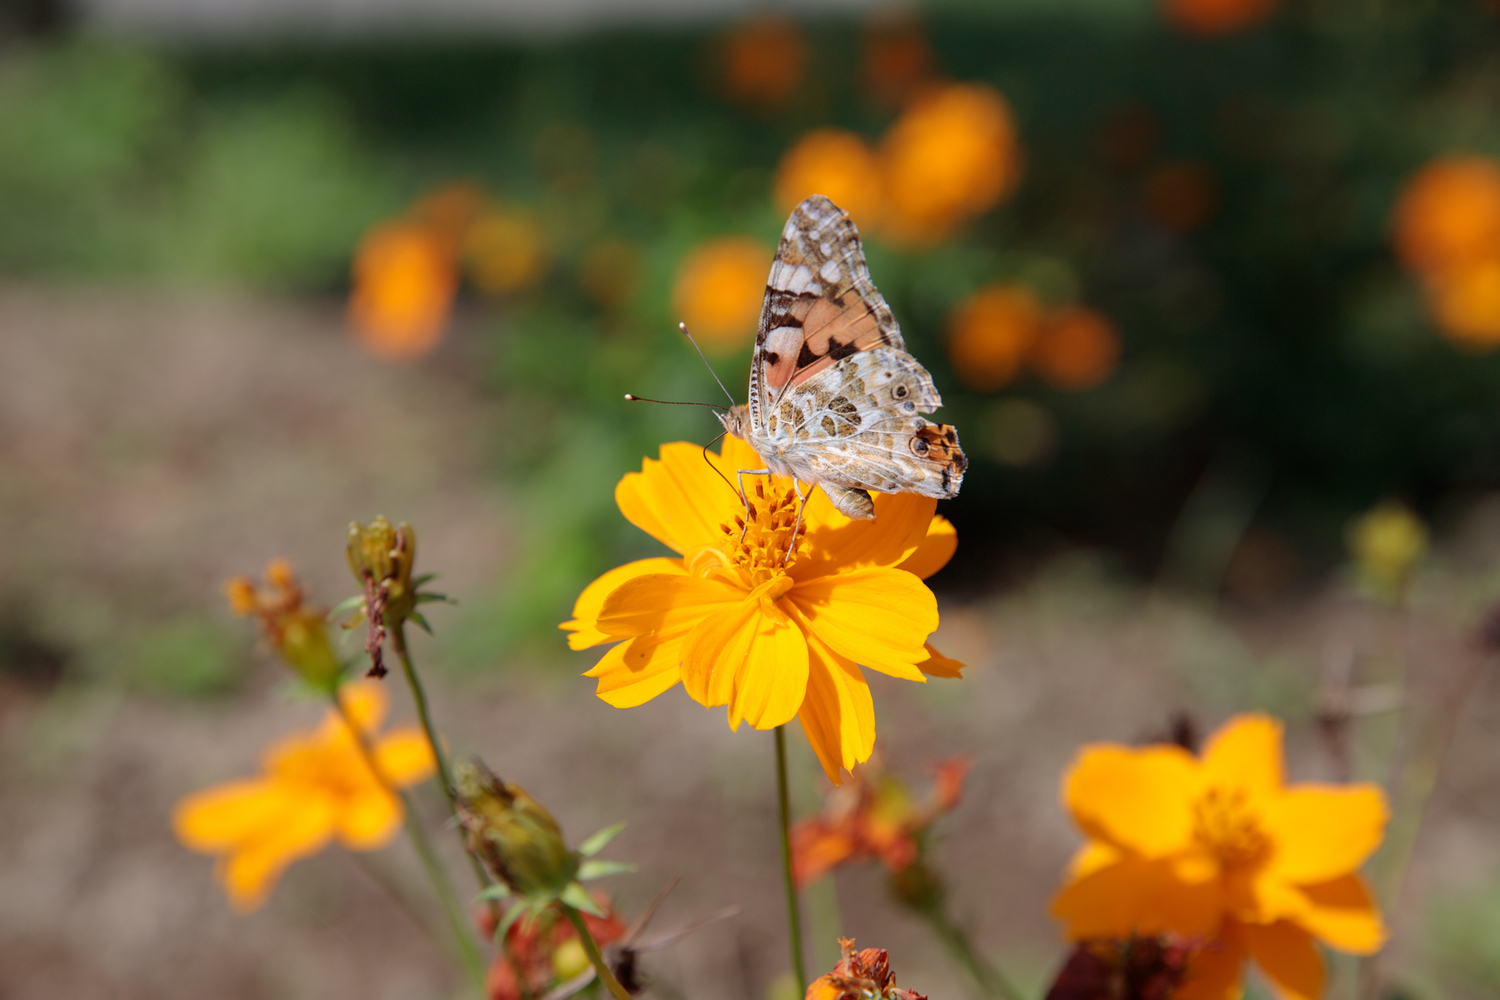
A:
{"label": "blurred orange bloom just right of butterfly's wing, left of a pair", "polygon": [[1042,309],[1030,289],[987,285],[948,316],[948,360],[969,388],[993,393],[1022,370],[1041,333]]}

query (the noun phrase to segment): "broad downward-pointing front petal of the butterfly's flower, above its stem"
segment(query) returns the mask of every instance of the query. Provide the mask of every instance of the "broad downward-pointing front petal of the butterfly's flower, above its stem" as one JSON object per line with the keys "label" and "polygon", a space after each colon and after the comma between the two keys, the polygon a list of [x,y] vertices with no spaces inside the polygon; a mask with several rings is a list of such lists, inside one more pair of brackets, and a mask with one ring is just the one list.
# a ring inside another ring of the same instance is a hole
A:
{"label": "broad downward-pointing front petal of the butterfly's flower, above its stem", "polygon": [[682,648],[682,687],[700,705],[728,705],[729,726],[774,729],[807,694],[807,640],[796,625],[777,625],[759,601],[705,618]]}

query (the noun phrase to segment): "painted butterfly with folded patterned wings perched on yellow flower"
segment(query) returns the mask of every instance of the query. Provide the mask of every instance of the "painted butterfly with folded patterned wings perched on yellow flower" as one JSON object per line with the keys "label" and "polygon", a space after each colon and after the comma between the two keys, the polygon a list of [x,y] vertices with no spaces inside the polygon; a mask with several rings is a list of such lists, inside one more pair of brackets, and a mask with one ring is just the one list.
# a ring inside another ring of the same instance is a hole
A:
{"label": "painted butterfly with folded patterned wings perched on yellow flower", "polygon": [[792,210],[766,279],[750,400],[718,414],[765,469],[820,486],[848,517],[870,490],[958,495],[958,432],[926,420],[942,397],[870,280],[860,231],[822,195]]}

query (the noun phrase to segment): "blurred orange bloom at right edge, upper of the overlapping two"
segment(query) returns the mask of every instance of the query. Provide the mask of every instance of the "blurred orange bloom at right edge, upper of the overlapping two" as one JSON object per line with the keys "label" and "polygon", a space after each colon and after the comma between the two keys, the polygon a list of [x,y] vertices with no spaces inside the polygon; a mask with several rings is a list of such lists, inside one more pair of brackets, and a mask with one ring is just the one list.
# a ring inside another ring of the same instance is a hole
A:
{"label": "blurred orange bloom at right edge, upper of the overlapping two", "polygon": [[1500,258],[1500,163],[1432,160],[1401,189],[1394,223],[1396,253],[1422,274]]}

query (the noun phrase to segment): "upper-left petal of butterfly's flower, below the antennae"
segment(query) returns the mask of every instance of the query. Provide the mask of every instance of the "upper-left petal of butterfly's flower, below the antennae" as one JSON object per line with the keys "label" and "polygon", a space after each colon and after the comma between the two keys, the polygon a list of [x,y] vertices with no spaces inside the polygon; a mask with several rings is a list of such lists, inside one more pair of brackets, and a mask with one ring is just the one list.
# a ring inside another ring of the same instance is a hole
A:
{"label": "upper-left petal of butterfly's flower, below the antennae", "polygon": [[705,460],[702,445],[686,441],[662,445],[660,454],[660,460],[645,459],[639,472],[627,472],[615,486],[620,513],[678,555],[717,544],[718,525],[740,507],[735,487],[716,468],[720,462],[714,456]]}

